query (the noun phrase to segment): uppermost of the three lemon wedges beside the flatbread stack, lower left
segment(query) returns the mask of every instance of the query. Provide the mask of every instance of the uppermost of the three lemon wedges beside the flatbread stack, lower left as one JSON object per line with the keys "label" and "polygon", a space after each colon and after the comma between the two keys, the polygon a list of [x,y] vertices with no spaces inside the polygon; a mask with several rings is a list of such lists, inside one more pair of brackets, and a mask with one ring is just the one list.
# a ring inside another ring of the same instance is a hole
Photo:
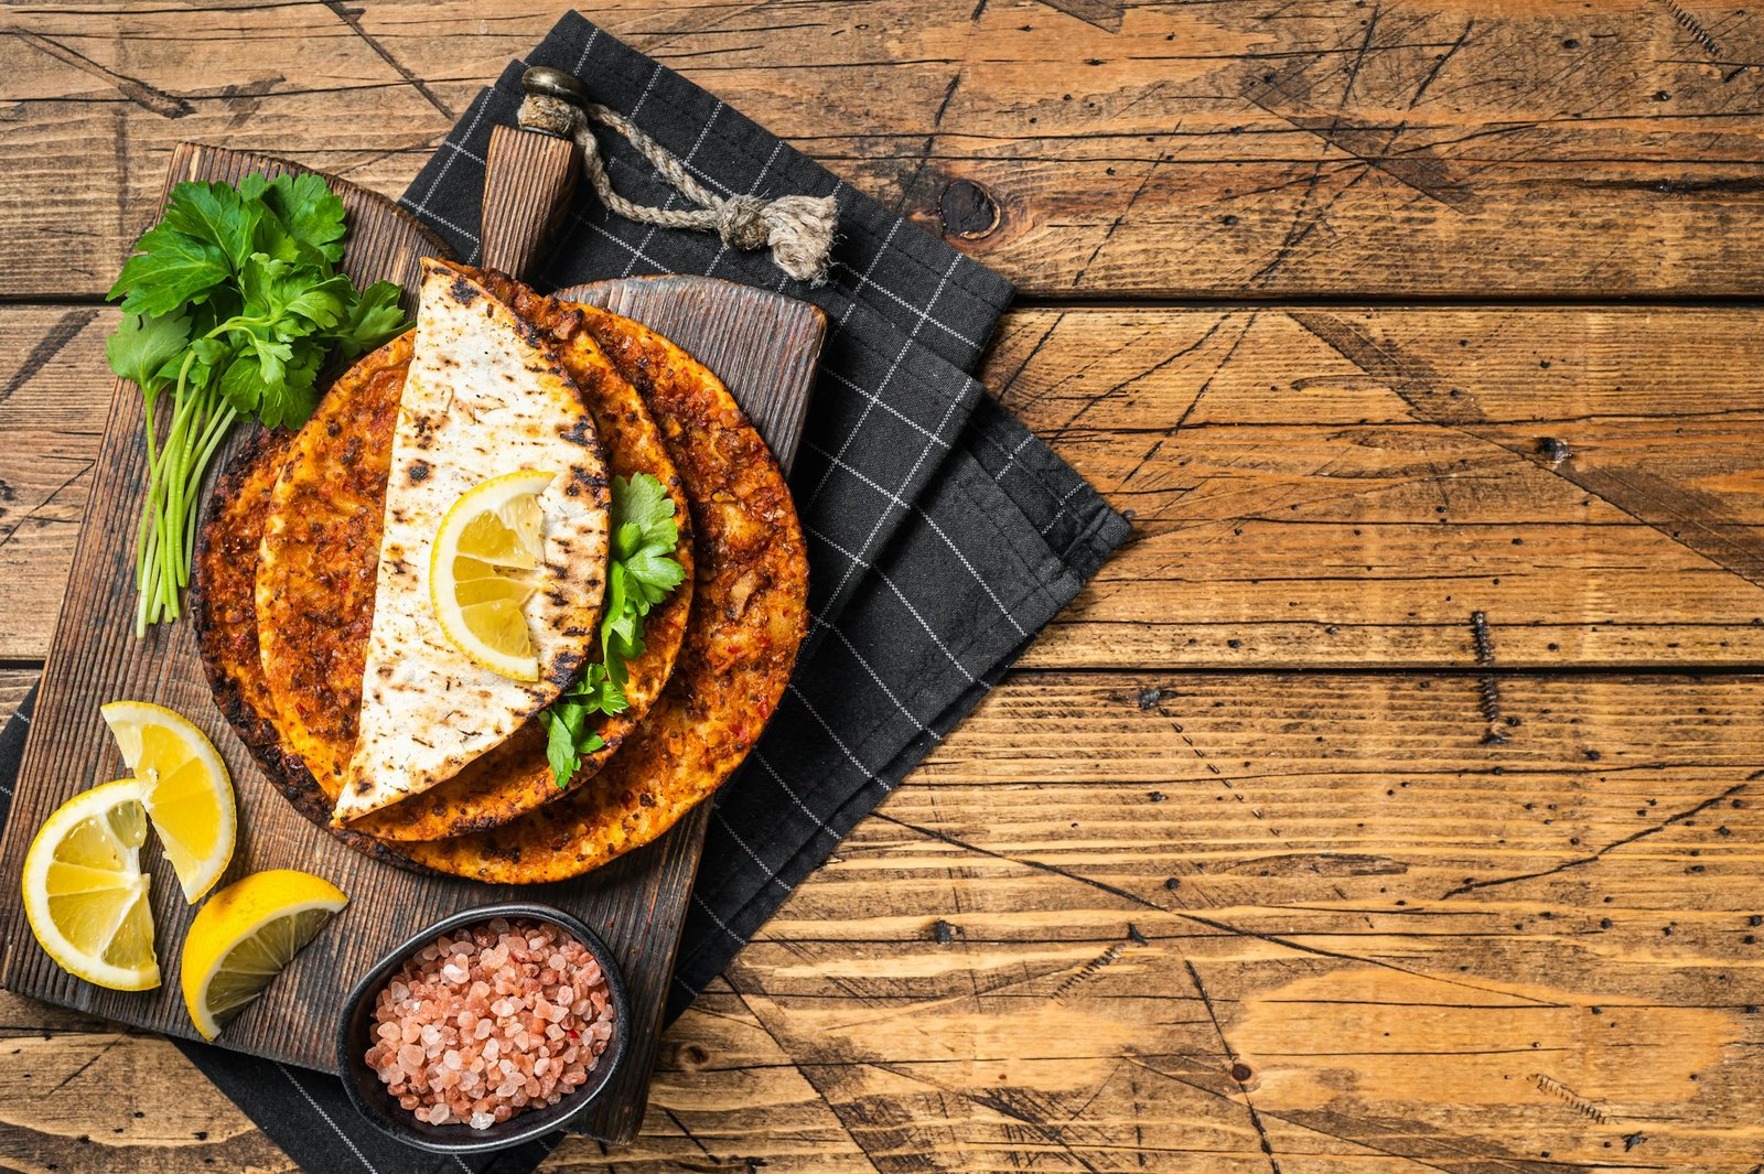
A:
{"label": "uppermost of the three lemon wedges beside the flatbread stack, lower left", "polygon": [[238,836],[226,763],[201,730],[164,705],[111,702],[99,712],[141,781],[141,802],[183,897],[196,904],[226,873]]}

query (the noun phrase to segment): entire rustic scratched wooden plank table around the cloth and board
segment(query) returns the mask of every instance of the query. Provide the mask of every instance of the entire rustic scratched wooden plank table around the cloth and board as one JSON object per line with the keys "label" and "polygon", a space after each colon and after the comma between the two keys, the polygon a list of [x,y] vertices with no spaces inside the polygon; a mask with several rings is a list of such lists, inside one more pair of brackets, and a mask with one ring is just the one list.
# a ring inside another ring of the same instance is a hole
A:
{"label": "entire rustic scratched wooden plank table around the cloth and board", "polygon": [[[0,11],[0,710],[171,143],[397,192],[559,11]],[[589,16],[1018,282],[986,383],[1136,539],[550,1169],[1757,1169],[1764,16]],[[288,1167],[0,1008],[7,1167]]]}

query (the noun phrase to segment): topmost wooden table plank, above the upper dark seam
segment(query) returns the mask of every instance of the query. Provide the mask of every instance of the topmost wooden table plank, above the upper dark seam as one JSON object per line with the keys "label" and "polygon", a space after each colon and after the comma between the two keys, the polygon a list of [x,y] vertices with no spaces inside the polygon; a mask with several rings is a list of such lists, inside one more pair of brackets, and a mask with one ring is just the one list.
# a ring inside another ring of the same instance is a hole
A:
{"label": "topmost wooden table plank, above the upper dark seam", "polygon": [[[0,293],[101,293],[178,139],[395,196],[566,7],[0,9]],[[1035,293],[1752,294],[1764,279],[1764,18],[1732,5],[584,12]]]}

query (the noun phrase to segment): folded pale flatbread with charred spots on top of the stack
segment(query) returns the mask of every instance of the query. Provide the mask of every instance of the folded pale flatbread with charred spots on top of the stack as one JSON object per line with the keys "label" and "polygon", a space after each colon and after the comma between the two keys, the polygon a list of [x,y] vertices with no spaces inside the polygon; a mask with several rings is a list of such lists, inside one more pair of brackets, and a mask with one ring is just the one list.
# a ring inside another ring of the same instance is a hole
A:
{"label": "folded pale flatbread with charred spots on top of the stack", "polygon": [[[446,511],[483,481],[526,469],[554,474],[538,494],[545,582],[524,605],[538,680],[467,658],[441,629],[429,587]],[[607,506],[594,420],[550,349],[471,277],[425,261],[386,478],[362,714],[333,821],[453,777],[575,680],[605,589]]]}

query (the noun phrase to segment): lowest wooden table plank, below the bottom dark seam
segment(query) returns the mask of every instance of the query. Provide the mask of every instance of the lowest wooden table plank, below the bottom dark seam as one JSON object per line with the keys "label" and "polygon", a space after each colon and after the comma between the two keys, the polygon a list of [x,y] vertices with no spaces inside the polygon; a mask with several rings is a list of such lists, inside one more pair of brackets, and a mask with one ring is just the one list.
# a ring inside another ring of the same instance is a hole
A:
{"label": "lowest wooden table plank, below the bottom dark seam", "polygon": [[[670,1031],[617,1169],[1750,1169],[1764,677],[1499,700],[1487,742],[1466,675],[1011,679]],[[168,1045],[46,1026],[0,1156],[259,1153],[215,1093],[102,1103]]]}

